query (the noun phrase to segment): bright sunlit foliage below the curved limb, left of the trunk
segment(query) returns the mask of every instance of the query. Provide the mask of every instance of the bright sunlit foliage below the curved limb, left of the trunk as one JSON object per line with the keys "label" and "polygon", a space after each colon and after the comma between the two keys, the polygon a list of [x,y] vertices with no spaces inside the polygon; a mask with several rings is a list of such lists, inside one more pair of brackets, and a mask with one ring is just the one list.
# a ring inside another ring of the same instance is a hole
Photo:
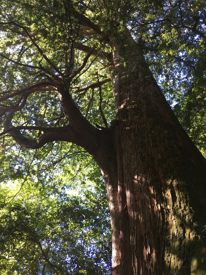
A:
{"label": "bright sunlit foliage below the curved limb, left of the trunk", "polygon": [[[71,146],[75,157],[52,172],[54,163],[45,166],[54,150],[43,151],[22,160],[25,171],[17,162],[1,169],[8,174],[0,185],[0,274],[107,274],[110,218],[97,166],[89,156],[80,163],[81,149]],[[15,159],[19,152],[7,154]]]}

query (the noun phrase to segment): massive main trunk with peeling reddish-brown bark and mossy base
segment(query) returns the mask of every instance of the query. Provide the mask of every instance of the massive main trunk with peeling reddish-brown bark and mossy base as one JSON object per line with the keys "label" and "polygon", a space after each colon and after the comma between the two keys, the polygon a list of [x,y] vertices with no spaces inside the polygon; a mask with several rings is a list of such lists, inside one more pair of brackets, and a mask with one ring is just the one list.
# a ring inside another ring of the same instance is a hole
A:
{"label": "massive main trunk with peeling reddish-brown bark and mossy base", "polygon": [[206,274],[206,160],[132,37],[110,40],[116,160],[97,161],[112,215],[112,275]]}

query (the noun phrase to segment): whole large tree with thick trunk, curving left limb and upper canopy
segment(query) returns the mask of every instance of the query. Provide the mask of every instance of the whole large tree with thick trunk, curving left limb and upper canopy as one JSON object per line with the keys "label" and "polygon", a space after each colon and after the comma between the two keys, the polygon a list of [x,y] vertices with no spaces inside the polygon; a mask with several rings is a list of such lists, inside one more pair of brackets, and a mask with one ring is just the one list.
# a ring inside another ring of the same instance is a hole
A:
{"label": "whole large tree with thick trunk, curving left limb and upper canopy", "polygon": [[195,0],[1,1],[1,135],[94,158],[112,275],[206,274],[206,160],[153,76],[181,98],[201,90],[205,16]]}

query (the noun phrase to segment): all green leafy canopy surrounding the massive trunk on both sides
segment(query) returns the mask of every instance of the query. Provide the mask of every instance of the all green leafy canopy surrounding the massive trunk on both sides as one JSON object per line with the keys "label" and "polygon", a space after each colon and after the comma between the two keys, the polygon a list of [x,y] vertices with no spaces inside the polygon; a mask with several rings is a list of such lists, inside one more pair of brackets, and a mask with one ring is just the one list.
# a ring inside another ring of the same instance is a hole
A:
{"label": "all green leafy canopy surrounding the massive trunk on both sides", "polygon": [[[183,127],[206,151],[203,0],[16,0],[0,7],[0,113],[9,127],[38,142],[46,129],[67,126],[62,83],[92,125],[110,126],[107,38],[125,32],[126,44],[127,26]],[[65,141],[21,147],[1,122],[0,274],[108,274],[106,191],[91,156]]]}

